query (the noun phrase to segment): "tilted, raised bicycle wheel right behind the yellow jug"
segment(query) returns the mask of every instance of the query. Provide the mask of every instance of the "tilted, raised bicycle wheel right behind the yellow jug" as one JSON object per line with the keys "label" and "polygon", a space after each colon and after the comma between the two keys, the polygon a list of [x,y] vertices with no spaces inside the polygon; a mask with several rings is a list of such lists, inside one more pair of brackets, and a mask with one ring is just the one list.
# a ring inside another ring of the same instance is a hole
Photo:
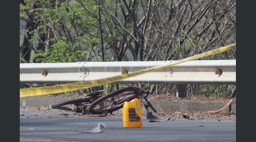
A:
{"label": "tilted, raised bicycle wheel right behind the yellow jug", "polygon": [[120,99],[127,97],[132,94],[138,93],[138,88],[136,87],[125,87],[107,95],[100,97],[95,100],[88,108],[91,114],[103,114],[104,112],[111,113],[123,107],[123,104],[117,105]]}

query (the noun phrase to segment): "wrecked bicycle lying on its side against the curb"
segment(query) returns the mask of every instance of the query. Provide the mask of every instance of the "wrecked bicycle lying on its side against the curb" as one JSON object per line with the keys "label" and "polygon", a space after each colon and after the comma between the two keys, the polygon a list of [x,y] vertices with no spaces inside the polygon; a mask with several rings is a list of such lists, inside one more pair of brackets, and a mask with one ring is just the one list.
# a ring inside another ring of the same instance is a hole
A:
{"label": "wrecked bicycle lying on its side against the curb", "polygon": [[157,112],[146,98],[148,95],[151,94],[149,90],[143,90],[135,86],[130,86],[116,90],[104,96],[99,96],[95,92],[92,92],[92,94],[93,93],[96,95],[55,103],[52,105],[52,108],[64,108],[63,110],[75,111],[82,114],[86,114],[87,112],[89,112],[90,114],[106,115],[107,113],[111,113],[113,111],[121,109],[127,99],[132,100],[135,98],[143,98],[147,102],[146,104],[144,104],[146,110],[148,111],[148,107],[151,107],[155,113]]}

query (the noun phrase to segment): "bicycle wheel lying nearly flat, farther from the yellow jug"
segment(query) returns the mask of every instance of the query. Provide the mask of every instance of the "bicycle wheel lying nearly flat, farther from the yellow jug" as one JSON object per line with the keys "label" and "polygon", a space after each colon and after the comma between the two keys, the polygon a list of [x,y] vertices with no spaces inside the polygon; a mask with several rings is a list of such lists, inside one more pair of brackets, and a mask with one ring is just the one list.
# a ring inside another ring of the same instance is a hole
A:
{"label": "bicycle wheel lying nearly flat, farther from the yellow jug", "polygon": [[90,98],[76,98],[52,104],[52,108],[82,113],[82,107],[90,102]]}

